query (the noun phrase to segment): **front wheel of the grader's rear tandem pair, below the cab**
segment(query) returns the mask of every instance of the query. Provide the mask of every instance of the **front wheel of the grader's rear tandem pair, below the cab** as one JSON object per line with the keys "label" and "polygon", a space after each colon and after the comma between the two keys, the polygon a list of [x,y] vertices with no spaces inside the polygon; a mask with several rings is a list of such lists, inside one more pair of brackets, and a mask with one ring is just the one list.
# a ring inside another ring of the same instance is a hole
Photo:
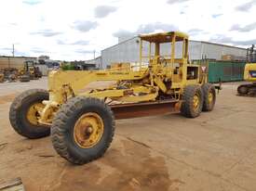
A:
{"label": "front wheel of the grader's rear tandem pair, below the cab", "polygon": [[199,85],[187,85],[182,95],[181,112],[184,117],[196,118],[203,108],[203,92]]}

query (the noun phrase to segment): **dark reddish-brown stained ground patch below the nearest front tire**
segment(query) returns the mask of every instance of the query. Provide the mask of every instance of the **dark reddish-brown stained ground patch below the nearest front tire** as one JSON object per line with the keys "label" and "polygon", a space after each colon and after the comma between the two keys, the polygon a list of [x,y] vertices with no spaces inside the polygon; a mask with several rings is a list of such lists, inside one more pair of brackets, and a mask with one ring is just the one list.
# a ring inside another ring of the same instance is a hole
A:
{"label": "dark reddish-brown stained ground patch below the nearest front tire", "polygon": [[150,148],[129,140],[110,149],[96,162],[71,166],[50,190],[179,190],[184,184],[170,179],[165,158],[151,156]]}

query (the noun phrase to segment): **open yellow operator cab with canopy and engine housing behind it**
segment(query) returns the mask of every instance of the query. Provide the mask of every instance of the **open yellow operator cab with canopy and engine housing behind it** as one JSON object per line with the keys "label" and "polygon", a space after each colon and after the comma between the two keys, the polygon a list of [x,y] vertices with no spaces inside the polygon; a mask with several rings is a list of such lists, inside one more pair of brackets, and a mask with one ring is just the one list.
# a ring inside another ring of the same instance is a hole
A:
{"label": "open yellow operator cab with canopy and engine housing behind it", "polygon": [[[168,67],[173,83],[196,81],[199,67],[188,64],[188,35],[183,32],[141,34],[140,63],[154,68],[157,64]],[[182,75],[186,73],[186,75]],[[178,84],[177,84],[178,85]]]}

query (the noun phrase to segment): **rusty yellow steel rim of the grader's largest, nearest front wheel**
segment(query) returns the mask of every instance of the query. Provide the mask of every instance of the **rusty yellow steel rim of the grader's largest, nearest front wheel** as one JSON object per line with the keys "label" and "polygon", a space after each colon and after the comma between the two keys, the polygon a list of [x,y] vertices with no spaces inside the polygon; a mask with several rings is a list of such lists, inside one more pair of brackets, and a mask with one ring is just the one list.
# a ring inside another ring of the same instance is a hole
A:
{"label": "rusty yellow steel rim of the grader's largest, nearest front wheel", "polygon": [[95,146],[101,140],[103,131],[101,117],[97,113],[88,112],[74,124],[74,142],[82,148]]}

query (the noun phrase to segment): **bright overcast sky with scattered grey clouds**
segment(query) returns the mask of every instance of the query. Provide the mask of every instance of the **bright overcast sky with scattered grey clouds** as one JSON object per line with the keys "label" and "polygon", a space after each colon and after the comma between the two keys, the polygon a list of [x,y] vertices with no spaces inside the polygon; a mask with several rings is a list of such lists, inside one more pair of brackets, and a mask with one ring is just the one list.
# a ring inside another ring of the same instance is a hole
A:
{"label": "bright overcast sky with scattered grey clouds", "polygon": [[190,39],[256,44],[256,0],[1,0],[0,55],[80,60],[118,36],[181,31]]}

